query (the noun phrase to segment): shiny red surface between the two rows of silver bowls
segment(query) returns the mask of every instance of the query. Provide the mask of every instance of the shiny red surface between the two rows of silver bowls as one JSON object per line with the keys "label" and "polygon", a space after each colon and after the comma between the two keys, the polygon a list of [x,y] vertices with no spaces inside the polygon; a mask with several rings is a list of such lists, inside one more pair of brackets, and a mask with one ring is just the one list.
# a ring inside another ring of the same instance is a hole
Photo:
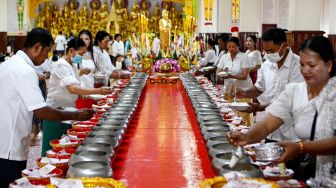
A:
{"label": "shiny red surface between the two rows of silver bowls", "polygon": [[186,92],[177,84],[147,83],[113,162],[128,187],[198,187],[215,176]]}

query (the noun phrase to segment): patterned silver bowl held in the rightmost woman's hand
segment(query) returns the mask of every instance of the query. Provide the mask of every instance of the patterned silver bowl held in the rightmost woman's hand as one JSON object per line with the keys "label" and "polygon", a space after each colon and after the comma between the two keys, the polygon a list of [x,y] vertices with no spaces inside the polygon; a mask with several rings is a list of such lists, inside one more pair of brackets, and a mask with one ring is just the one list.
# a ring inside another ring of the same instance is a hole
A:
{"label": "patterned silver bowl held in the rightmost woman's hand", "polygon": [[261,144],[254,148],[257,161],[273,162],[280,159],[284,148],[276,143]]}

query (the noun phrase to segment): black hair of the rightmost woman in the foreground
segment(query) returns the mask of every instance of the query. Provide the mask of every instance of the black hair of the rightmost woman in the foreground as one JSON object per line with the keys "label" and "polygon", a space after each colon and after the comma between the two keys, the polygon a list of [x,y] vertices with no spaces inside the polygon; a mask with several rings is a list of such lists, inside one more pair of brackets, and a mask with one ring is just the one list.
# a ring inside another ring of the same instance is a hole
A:
{"label": "black hair of the rightmost woman in the foreground", "polygon": [[314,36],[303,42],[300,47],[300,52],[309,49],[319,54],[320,58],[325,62],[332,62],[330,77],[336,76],[335,53],[330,40],[323,36]]}

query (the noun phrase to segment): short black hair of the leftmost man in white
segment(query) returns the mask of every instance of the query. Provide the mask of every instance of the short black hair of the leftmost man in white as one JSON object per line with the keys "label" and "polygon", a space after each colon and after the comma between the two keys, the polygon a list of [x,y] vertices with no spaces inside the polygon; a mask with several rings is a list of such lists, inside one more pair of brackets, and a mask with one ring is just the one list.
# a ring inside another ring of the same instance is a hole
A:
{"label": "short black hair of the leftmost man in white", "polygon": [[44,48],[54,45],[54,40],[49,31],[43,28],[34,28],[28,32],[23,48],[32,48],[37,43],[40,43]]}

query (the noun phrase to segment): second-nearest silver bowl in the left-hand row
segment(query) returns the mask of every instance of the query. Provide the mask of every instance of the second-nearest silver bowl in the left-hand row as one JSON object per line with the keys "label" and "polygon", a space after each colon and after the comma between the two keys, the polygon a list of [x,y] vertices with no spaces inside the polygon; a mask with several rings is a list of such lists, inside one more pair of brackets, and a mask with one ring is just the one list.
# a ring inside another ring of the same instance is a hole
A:
{"label": "second-nearest silver bowl in the left-hand row", "polygon": [[110,162],[110,155],[105,151],[76,151],[71,155],[69,165],[80,161]]}

